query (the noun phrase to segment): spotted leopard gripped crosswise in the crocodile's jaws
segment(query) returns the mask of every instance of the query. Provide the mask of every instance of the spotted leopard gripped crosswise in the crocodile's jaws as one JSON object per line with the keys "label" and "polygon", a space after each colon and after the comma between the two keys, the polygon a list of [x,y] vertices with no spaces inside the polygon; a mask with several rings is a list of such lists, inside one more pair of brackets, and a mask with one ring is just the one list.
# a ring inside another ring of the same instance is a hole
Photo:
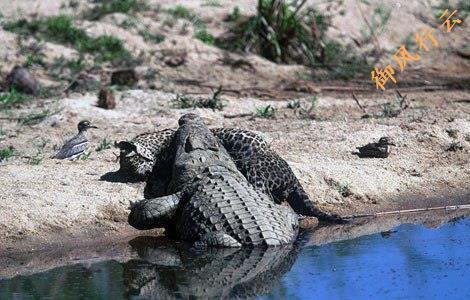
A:
{"label": "spotted leopard gripped crosswise in the crocodile's jaws", "polygon": [[[215,128],[211,132],[225,147],[240,172],[256,189],[271,195],[275,202],[286,201],[298,214],[323,221],[343,222],[315,207],[288,163],[272,150],[258,134],[235,128]],[[165,129],[144,133],[130,142],[120,142],[120,170],[135,176],[150,177],[146,198],[162,196],[170,180],[169,166],[175,131]],[[152,171],[153,170],[153,171]]]}

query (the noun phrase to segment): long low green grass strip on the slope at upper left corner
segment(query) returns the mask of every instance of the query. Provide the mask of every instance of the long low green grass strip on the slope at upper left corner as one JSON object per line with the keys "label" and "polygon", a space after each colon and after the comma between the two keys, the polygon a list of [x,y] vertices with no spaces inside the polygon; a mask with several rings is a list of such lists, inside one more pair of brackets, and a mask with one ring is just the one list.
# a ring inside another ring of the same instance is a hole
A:
{"label": "long low green grass strip on the slope at upper left corner", "polygon": [[120,39],[110,35],[91,37],[83,29],[75,27],[72,18],[66,15],[32,21],[22,19],[5,24],[4,29],[74,47],[82,54],[94,55],[98,61],[122,63],[133,59]]}

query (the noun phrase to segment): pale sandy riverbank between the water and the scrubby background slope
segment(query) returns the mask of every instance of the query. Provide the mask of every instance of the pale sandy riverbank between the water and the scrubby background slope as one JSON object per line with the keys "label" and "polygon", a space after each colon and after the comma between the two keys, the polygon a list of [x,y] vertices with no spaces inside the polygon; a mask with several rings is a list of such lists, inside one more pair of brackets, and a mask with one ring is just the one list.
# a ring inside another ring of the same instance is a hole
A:
{"label": "pale sandy riverbank between the water and the scrubby background slope", "polygon": [[[104,142],[176,127],[179,116],[195,111],[212,126],[240,127],[265,135],[299,177],[311,199],[326,212],[351,215],[403,208],[470,203],[470,93],[466,91],[408,93],[409,108],[396,117],[361,118],[356,102],[345,95],[319,96],[315,118],[287,108],[290,100],[267,101],[225,96],[222,113],[209,109],[175,109],[174,94],[132,90],[117,93],[114,110],[95,106],[96,95],[75,95],[59,102],[41,100],[17,113],[58,110],[36,125],[2,122],[16,156],[1,162],[0,237],[2,248],[23,241],[60,244],[51,237],[137,234],[127,225],[129,201],[143,198],[143,183],[113,182],[117,149]],[[393,93],[360,95],[371,115]],[[299,101],[306,105],[310,98]],[[240,105],[243,103],[243,105]],[[274,118],[236,117],[272,105]],[[91,155],[75,162],[48,157],[90,119]],[[353,155],[355,147],[392,137],[397,146],[386,159]],[[446,151],[460,142],[463,149]],[[108,148],[108,147],[105,147]],[[39,154],[35,164],[31,157]]]}

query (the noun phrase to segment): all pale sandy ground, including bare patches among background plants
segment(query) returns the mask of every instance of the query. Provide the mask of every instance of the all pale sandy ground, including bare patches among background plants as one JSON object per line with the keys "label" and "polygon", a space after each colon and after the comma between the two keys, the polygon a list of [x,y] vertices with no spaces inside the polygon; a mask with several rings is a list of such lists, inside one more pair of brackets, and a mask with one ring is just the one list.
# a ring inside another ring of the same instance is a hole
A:
{"label": "all pale sandy ground, including bare patches among background plants", "polygon": [[[227,24],[220,20],[234,5],[230,1],[221,2],[221,7],[210,8],[204,1],[160,3],[162,9],[176,3],[185,5],[209,22],[213,34],[222,34]],[[358,7],[356,1],[345,2],[346,12],[335,17],[335,26],[329,34],[345,44],[354,44],[360,40],[364,26],[358,21],[361,9],[367,12],[369,8]],[[377,1],[371,2],[377,5]],[[67,6],[61,7],[61,1],[44,1],[34,8],[28,3],[0,1],[0,10],[8,18],[30,16],[33,11],[39,16],[76,13]],[[380,45],[363,45],[358,51],[381,48],[387,53],[381,61],[389,63],[391,54],[407,36],[424,26],[435,26],[435,11],[429,5],[420,1],[396,3],[400,5],[392,7],[391,21],[378,37]],[[237,5],[243,13],[252,13],[255,1],[240,1]],[[192,36],[194,28],[185,20],[176,20],[171,28],[164,26],[167,17],[162,12],[143,12],[137,16],[146,26],[167,35],[167,39],[160,44],[144,41],[136,34],[136,28],[120,27],[122,20],[128,18],[122,14],[108,15],[96,22],[76,21],[89,34],[113,34],[125,41],[134,54],[141,51],[145,54],[142,66],[137,68],[141,80],[133,89],[116,93],[115,109],[98,108],[97,93],[61,94],[34,100],[2,115],[0,148],[14,146],[17,155],[0,162],[0,249],[17,249],[21,245],[31,250],[77,240],[119,239],[139,234],[127,225],[126,218],[129,201],[143,197],[144,185],[107,180],[109,176],[105,175],[118,169],[115,156],[118,151],[97,152],[97,147],[105,138],[113,143],[142,132],[176,127],[179,116],[193,111],[172,108],[171,100],[176,93],[205,97],[211,93],[211,87],[219,85],[227,90],[222,97],[225,109],[222,112],[195,109],[195,112],[210,126],[240,127],[265,134],[272,147],[290,163],[312,200],[325,211],[351,215],[470,203],[467,85],[470,62],[455,54],[468,46],[468,27],[459,28],[452,35],[436,33],[442,47],[423,54],[422,61],[410,64],[401,74],[398,87],[410,100],[406,110],[398,117],[363,119],[364,111],[352,98],[352,92],[368,114],[380,116],[384,104],[396,103],[391,88],[379,92],[368,79],[350,82],[299,79],[310,70],[208,46]],[[403,22],[405,17],[410,22]],[[415,25],[408,26],[410,23]],[[0,29],[0,41],[5,45],[0,48],[3,59],[0,75],[4,78],[14,65],[24,62],[25,56],[16,44],[15,34]],[[76,55],[71,48],[47,41],[43,51],[49,63],[61,55]],[[181,55],[186,59],[183,65],[175,68],[165,63],[168,58]],[[249,67],[224,63],[227,55],[244,60]],[[112,70],[103,66],[90,69],[90,73],[106,84]],[[143,80],[149,70],[156,74],[155,78]],[[32,68],[45,86],[68,85],[54,80],[46,71]],[[446,88],[448,82],[454,89]],[[313,96],[318,99],[312,111],[314,119],[287,108],[294,99],[308,107]],[[278,109],[274,119],[226,117],[253,113],[268,104]],[[56,113],[31,126],[15,120],[43,109]],[[82,119],[99,127],[90,132],[90,159],[76,162],[49,159],[66,138],[75,134],[76,124]],[[389,158],[361,159],[351,154],[355,147],[384,135],[397,143]],[[455,141],[462,144],[463,150],[446,151]],[[42,160],[32,164],[31,157]]]}

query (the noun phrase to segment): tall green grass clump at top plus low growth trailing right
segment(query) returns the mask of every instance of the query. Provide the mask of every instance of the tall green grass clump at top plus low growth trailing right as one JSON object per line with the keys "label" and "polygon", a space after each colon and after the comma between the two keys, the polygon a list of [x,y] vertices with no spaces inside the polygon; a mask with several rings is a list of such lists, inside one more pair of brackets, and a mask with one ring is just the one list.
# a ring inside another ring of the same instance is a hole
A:
{"label": "tall green grass clump at top plus low growth trailing right", "polygon": [[353,56],[350,49],[326,37],[330,15],[300,6],[303,1],[297,1],[299,5],[292,3],[258,0],[257,14],[248,17],[234,9],[226,19],[230,21],[231,34],[216,39],[215,45],[256,53],[274,62],[324,68],[330,74],[327,79],[349,80],[369,74],[365,59]]}

